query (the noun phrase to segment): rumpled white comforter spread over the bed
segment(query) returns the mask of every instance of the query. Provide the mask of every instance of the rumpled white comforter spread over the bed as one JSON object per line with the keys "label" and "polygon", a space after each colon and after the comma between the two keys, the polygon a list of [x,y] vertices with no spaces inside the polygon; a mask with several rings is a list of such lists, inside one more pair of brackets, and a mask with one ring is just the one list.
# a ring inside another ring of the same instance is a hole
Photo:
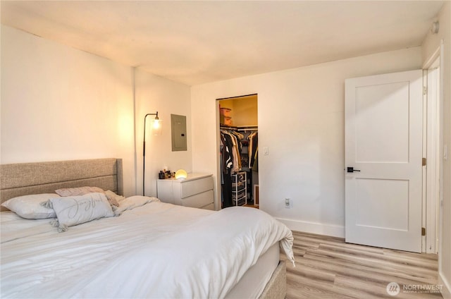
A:
{"label": "rumpled white comforter spread over the bed", "polygon": [[1,298],[223,298],[279,240],[293,260],[291,231],[258,209],[132,198],[149,203],[63,233],[1,213]]}

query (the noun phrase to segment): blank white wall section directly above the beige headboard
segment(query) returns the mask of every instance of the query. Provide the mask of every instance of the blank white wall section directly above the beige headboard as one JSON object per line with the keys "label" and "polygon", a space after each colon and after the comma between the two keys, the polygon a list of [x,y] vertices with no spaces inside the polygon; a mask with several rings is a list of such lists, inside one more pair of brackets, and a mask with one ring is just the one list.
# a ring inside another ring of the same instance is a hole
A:
{"label": "blank white wall section directly above the beige headboard", "polygon": [[1,26],[1,163],[117,157],[135,192],[131,69]]}

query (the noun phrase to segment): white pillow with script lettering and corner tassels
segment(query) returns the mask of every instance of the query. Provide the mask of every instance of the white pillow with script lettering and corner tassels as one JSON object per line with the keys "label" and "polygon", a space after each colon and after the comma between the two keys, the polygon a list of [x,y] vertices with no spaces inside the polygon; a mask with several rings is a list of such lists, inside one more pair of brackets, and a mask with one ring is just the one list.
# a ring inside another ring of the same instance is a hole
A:
{"label": "white pillow with script lettering and corner tassels", "polygon": [[56,212],[58,231],[67,231],[69,226],[84,224],[103,217],[114,216],[104,193],[89,193],[81,196],[57,197],[49,200]]}

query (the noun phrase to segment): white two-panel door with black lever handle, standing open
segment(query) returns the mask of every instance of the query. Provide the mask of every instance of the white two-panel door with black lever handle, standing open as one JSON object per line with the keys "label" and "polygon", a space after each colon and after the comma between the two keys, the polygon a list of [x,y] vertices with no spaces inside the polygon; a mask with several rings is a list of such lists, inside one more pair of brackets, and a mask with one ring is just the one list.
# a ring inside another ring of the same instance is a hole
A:
{"label": "white two-panel door with black lever handle, standing open", "polygon": [[345,81],[348,243],[421,252],[422,76]]}

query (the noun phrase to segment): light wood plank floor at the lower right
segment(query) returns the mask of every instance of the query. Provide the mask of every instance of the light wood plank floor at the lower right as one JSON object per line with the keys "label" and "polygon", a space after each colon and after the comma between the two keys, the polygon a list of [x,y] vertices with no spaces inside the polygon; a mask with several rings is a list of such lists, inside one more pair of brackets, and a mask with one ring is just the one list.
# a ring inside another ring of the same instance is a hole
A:
{"label": "light wood plank floor at the lower right", "polygon": [[[438,288],[437,255],[347,244],[342,238],[295,231],[293,236],[296,267],[287,263],[287,299],[442,298],[440,293],[412,290]],[[280,258],[286,259],[282,253]],[[399,294],[388,295],[391,282],[399,284]]]}

